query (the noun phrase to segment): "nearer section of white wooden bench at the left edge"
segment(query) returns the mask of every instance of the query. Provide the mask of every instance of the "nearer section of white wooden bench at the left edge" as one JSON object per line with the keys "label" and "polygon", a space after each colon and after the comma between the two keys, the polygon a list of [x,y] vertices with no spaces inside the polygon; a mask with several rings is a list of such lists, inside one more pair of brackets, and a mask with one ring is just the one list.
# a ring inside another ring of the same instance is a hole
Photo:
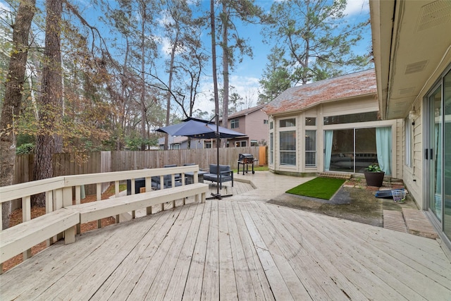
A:
{"label": "nearer section of white wooden bench at the left edge", "polygon": [[[75,225],[80,214],[61,208],[0,232],[0,263],[64,232],[65,243],[75,242]],[[30,256],[31,254],[29,254]]]}

